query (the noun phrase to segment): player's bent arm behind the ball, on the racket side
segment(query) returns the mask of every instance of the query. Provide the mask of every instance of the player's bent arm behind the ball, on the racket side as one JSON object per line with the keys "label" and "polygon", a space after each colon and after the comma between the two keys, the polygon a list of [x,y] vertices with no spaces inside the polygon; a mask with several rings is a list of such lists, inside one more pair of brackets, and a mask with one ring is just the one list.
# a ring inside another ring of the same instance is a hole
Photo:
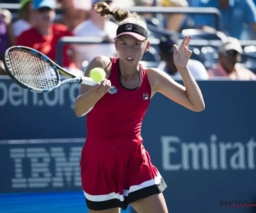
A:
{"label": "player's bent arm behind the ball, on the racket side", "polygon": [[[91,60],[90,65],[87,67],[86,72],[84,73],[85,77],[89,77],[90,70],[95,67],[101,67],[108,73],[111,69],[111,61],[108,57],[98,56]],[[77,97],[74,104],[74,112],[78,117],[82,117],[96,105],[96,102],[99,101],[103,95],[108,93],[111,83],[108,79],[102,81],[102,83],[97,83],[95,86],[89,86],[81,84],[79,90],[79,96]]]}

